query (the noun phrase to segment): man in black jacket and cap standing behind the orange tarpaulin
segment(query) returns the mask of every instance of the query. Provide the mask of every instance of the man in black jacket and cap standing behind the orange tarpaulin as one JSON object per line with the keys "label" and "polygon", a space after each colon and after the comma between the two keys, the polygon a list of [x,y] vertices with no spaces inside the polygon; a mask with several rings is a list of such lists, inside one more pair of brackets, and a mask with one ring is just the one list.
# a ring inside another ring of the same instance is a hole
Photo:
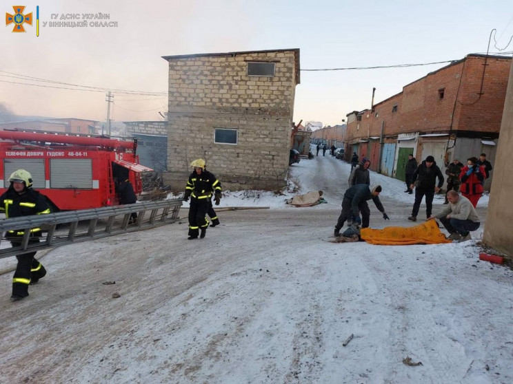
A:
{"label": "man in black jacket and cap standing behind the orange tarpaulin", "polygon": [[[436,184],[436,178],[439,179],[438,185]],[[417,213],[421,206],[422,198],[425,195],[425,213],[426,217],[431,217],[431,211],[433,208],[434,193],[440,191],[443,186],[443,175],[442,171],[436,165],[433,156],[427,156],[419,167],[417,167],[412,177],[412,184],[410,189],[415,189],[415,202],[413,204],[412,215],[408,217],[408,220],[416,222]]]}

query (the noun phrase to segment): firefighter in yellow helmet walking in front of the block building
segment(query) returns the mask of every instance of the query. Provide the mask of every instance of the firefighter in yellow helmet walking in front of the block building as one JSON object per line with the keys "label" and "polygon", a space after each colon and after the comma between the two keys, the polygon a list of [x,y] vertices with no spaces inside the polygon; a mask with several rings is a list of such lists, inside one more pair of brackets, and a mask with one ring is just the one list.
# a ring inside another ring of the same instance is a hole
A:
{"label": "firefighter in yellow helmet walking in front of the block building", "polygon": [[[190,200],[189,208],[189,240],[205,237],[208,220],[205,217],[210,207],[210,198],[214,192],[214,201],[219,205],[221,200],[221,183],[205,169],[205,160],[197,159],[191,164],[194,171],[189,176],[183,200]],[[200,230],[201,229],[201,235]]]}

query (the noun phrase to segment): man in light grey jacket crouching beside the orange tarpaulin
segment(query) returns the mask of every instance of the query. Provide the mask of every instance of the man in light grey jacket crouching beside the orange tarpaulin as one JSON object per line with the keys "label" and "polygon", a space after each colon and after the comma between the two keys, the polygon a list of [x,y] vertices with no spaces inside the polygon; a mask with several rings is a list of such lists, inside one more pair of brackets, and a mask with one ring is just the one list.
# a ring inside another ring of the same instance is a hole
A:
{"label": "man in light grey jacket crouching beside the orange tarpaulin", "polygon": [[447,200],[449,205],[440,213],[428,217],[427,220],[439,219],[450,233],[448,239],[461,242],[472,239],[470,232],[476,231],[480,225],[474,206],[465,196],[460,196],[452,190],[447,192]]}

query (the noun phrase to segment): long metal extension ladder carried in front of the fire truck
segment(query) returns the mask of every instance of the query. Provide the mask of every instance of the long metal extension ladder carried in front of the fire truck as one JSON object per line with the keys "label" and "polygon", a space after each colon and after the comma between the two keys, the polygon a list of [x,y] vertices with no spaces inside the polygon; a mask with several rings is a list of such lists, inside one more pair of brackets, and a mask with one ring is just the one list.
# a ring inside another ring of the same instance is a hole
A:
{"label": "long metal extension ladder carried in front of the fire truck", "polygon": [[[171,224],[179,220],[181,205],[181,199],[173,199],[3,219],[0,220],[0,259]],[[129,224],[131,213],[137,213],[133,224]],[[30,242],[34,239],[30,228],[42,229],[39,242]],[[13,230],[24,232],[23,237],[17,237],[17,242],[21,241],[19,246],[6,241],[10,240],[8,231]]]}

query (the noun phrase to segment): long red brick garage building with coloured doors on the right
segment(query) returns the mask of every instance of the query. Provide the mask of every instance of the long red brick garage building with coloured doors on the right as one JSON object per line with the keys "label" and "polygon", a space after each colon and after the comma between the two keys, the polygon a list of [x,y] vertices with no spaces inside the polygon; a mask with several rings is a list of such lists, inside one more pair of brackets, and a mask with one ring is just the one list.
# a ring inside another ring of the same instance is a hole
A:
{"label": "long red brick garage building with coloured doors on the right", "polygon": [[[465,163],[482,152],[493,164],[510,65],[511,58],[469,54],[371,109],[351,112],[346,156],[367,156],[371,169],[401,180],[410,153],[419,162],[434,156],[442,171],[453,158]],[[485,188],[490,184],[491,178]]]}

